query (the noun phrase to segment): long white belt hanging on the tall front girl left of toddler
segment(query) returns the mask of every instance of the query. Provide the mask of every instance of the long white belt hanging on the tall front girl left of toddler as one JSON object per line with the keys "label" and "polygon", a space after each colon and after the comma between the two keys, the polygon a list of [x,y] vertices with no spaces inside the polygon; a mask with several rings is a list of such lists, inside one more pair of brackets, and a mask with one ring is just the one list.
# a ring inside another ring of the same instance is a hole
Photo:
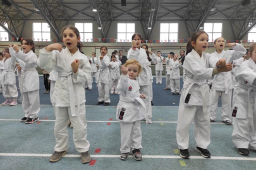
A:
{"label": "long white belt hanging on the tall front girl left of toddler", "polygon": [[58,77],[67,77],[68,78],[68,93],[70,94],[70,109],[71,109],[71,115],[76,116],[76,110],[75,110],[75,100],[77,104],[77,110],[79,111],[80,109],[80,96],[75,94],[75,89],[73,86],[73,81],[72,81],[72,72],[58,72]]}

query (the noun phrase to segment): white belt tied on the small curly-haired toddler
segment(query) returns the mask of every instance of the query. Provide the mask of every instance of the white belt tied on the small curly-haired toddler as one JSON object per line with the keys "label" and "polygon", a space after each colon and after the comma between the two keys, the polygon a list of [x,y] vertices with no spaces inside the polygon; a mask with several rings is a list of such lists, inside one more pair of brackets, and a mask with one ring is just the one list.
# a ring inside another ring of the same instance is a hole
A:
{"label": "white belt tied on the small curly-haired toddler", "polygon": [[135,103],[136,105],[138,105],[138,108],[140,109],[140,111],[142,111],[143,116],[145,116],[145,120],[146,123],[149,123],[149,118],[147,117],[147,111],[146,111],[146,106],[144,101],[141,98],[135,98],[135,99],[131,99],[131,98],[126,98],[124,96],[119,96],[120,101],[126,102],[126,103]]}

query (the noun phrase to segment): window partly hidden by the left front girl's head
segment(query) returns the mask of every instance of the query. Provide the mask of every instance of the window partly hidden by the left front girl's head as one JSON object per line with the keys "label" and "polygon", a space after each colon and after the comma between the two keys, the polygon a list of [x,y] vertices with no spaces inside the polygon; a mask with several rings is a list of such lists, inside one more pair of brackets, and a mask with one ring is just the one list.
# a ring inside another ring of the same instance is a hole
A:
{"label": "window partly hidden by the left front girl's head", "polygon": [[92,23],[75,23],[80,32],[81,42],[92,42]]}

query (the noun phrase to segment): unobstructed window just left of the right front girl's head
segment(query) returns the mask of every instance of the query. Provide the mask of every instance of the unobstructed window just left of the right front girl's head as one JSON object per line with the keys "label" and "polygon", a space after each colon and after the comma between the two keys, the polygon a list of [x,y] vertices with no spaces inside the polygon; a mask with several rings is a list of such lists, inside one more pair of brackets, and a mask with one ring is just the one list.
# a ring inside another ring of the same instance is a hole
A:
{"label": "unobstructed window just left of the right front girl's head", "polygon": [[160,40],[170,40],[177,42],[178,39],[178,23],[161,23],[160,25]]}

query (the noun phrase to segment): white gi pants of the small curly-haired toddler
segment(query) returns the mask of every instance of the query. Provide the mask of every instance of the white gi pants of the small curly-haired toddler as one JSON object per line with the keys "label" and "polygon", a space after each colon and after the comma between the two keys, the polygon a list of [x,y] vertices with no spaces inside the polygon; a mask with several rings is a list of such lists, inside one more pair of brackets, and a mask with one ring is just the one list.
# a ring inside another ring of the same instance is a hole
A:
{"label": "white gi pants of the small curly-haired toddler", "polygon": [[140,120],[137,122],[121,122],[121,154],[128,153],[131,150],[142,150],[142,131],[140,129]]}

